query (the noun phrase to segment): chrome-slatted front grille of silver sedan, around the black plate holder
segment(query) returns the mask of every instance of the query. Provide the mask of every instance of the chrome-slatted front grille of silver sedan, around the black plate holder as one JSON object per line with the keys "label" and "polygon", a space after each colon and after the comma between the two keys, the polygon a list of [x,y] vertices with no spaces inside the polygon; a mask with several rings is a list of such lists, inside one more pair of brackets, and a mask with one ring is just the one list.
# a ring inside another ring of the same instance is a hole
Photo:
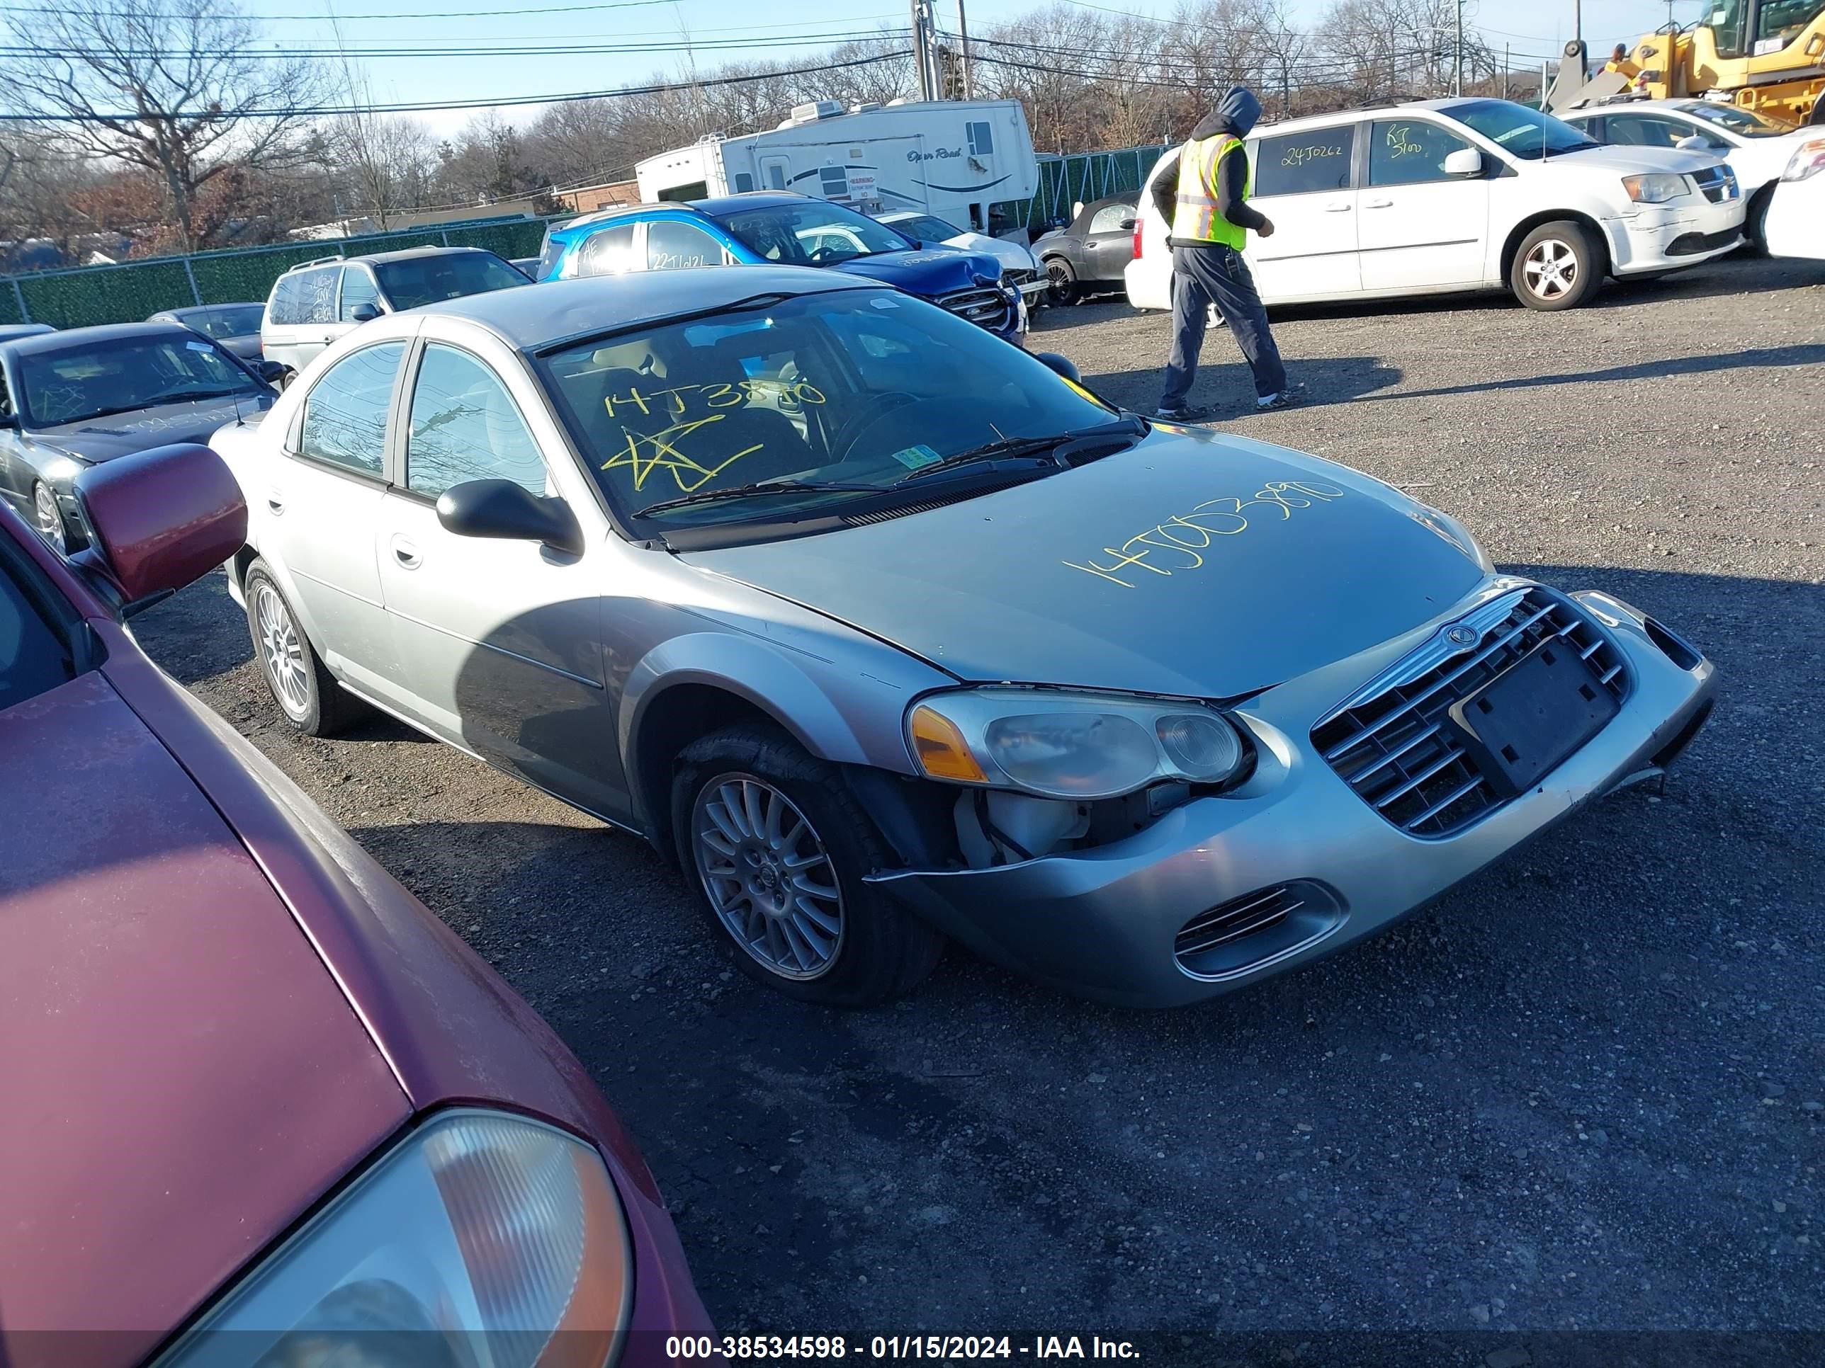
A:
{"label": "chrome-slatted front grille of silver sedan, around the black plate holder", "polygon": [[[1495,607],[1504,602],[1509,600]],[[1537,648],[1564,640],[1599,688],[1617,702],[1628,693],[1628,673],[1610,638],[1577,607],[1544,589],[1513,598],[1493,624],[1484,609],[1453,629],[1462,626],[1473,626],[1475,642],[1405,679],[1396,668],[1387,688],[1358,695],[1312,728],[1312,742],[1325,762],[1371,808],[1411,835],[1451,835],[1507,801],[1462,744],[1449,710]]]}

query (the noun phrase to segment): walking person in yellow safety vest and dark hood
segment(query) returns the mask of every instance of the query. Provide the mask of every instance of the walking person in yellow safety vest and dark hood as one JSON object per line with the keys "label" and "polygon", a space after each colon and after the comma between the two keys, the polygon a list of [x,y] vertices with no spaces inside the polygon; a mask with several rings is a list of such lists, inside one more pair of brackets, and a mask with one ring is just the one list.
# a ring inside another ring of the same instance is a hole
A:
{"label": "walking person in yellow safety vest and dark hood", "polygon": [[1197,378],[1197,352],[1204,345],[1204,314],[1210,306],[1230,325],[1248,358],[1259,409],[1296,403],[1287,387],[1287,367],[1267,326],[1267,310],[1256,292],[1243,244],[1248,232],[1272,237],[1267,215],[1248,208],[1248,150],[1243,139],[1261,117],[1261,100],[1245,86],[1230,86],[1217,108],[1192,130],[1177,162],[1166,162],[1148,192],[1172,224],[1172,358],[1159,416],[1179,421],[1210,418],[1208,409],[1188,403]]}

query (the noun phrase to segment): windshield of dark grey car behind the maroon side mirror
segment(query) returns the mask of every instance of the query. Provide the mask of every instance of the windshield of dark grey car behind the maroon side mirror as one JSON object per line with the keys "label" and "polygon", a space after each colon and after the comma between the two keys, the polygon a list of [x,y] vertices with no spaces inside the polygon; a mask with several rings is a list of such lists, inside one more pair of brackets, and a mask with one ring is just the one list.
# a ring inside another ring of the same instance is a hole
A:
{"label": "windshield of dark grey car behind the maroon side mirror", "polygon": [[18,358],[26,427],[62,427],[104,414],[228,394],[268,394],[215,343],[193,332],[89,341]]}

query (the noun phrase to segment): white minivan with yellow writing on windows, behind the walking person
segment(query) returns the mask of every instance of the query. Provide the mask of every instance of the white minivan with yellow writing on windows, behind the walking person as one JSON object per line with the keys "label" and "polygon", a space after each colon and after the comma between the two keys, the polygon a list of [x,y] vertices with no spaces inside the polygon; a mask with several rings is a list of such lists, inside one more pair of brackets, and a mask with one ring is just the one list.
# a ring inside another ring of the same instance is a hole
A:
{"label": "white minivan with yellow writing on windows, behind the walking person", "polygon": [[[1246,252],[1268,305],[1506,286],[1529,308],[1573,308],[1604,275],[1659,275],[1743,241],[1743,197],[1716,157],[1602,148],[1509,100],[1268,124],[1248,157],[1252,204],[1274,221]],[[1135,308],[1172,308],[1166,237],[1142,192]]]}

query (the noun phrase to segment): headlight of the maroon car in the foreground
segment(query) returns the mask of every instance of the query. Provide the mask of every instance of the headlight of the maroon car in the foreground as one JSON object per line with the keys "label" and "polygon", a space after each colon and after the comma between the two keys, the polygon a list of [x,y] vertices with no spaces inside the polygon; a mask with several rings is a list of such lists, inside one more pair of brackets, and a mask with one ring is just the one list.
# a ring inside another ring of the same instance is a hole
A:
{"label": "headlight of the maroon car in the foreground", "polygon": [[159,1368],[602,1368],[631,1260],[589,1145],[449,1111],[243,1277]]}

